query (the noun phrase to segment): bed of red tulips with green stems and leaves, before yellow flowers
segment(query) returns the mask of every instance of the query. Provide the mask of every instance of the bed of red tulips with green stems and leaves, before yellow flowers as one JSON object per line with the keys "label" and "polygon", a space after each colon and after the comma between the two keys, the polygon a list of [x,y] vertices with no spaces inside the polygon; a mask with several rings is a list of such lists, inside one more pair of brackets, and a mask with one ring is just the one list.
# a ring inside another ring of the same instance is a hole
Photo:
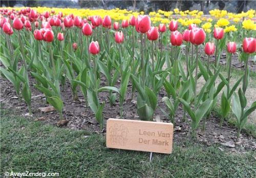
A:
{"label": "bed of red tulips with green stems and leaves, before yellow flowers", "polygon": [[[68,80],[74,100],[78,99],[80,87],[86,104],[92,109],[101,128],[105,103],[99,101],[98,94],[109,91],[112,106],[118,95],[119,115],[122,118],[129,82],[132,84],[132,98],[137,91],[137,113],[141,120],[153,121],[158,107],[158,93],[164,89],[166,97],[162,101],[169,113],[159,109],[175,124],[177,108],[182,105],[183,121],[187,121],[187,113],[192,120],[193,136],[201,121],[202,130],[205,129],[221,92],[220,126],[232,109],[237,117],[238,137],[248,115],[256,109],[256,102],[247,108],[245,98],[249,80],[248,58],[256,52],[255,38],[244,38],[241,58],[245,62],[245,73],[231,86],[231,58],[237,52],[238,45],[227,40],[234,38],[231,34],[225,35],[222,28],[214,29],[214,43],[211,42],[211,35],[206,35],[196,25],[179,29],[178,22],[172,20],[167,31],[165,24],[152,27],[150,17],[146,15],[137,18],[131,16],[130,20],[123,20],[119,27],[120,22],[113,23],[108,15],[103,19],[100,16],[82,19],[72,14],[65,17],[62,13],[39,14],[33,9],[22,12],[12,11],[1,16],[1,38],[5,38],[1,40],[1,61],[5,65],[1,72],[12,82],[17,96],[20,98],[22,95],[30,113],[29,75],[36,79],[34,86],[45,94],[47,102],[59,112],[60,119],[63,109],[60,86],[65,90]],[[203,44],[208,55],[207,62],[200,58]],[[220,73],[219,66],[225,45],[228,52],[227,78]],[[184,48],[185,55],[182,54]],[[214,54],[215,62],[211,64],[210,56]],[[20,59],[22,64],[18,65]],[[106,86],[100,86],[102,75],[106,78]],[[198,88],[200,77],[204,78],[205,83]],[[218,85],[217,78],[221,80]],[[241,82],[242,88],[236,93]]]}

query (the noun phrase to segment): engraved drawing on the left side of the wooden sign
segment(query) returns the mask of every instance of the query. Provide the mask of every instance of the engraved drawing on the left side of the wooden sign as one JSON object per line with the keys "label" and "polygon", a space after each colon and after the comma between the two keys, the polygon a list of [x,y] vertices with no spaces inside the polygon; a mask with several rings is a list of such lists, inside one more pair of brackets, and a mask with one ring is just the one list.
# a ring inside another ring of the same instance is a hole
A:
{"label": "engraved drawing on the left side of the wooden sign", "polygon": [[113,145],[125,146],[127,142],[128,129],[124,125],[115,124],[110,127],[110,141]]}

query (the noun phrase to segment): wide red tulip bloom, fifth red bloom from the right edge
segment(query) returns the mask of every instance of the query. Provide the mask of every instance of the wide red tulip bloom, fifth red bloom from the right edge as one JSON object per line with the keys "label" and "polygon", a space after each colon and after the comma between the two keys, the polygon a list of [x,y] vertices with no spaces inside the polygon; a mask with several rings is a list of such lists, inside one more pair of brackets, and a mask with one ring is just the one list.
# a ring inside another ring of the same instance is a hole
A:
{"label": "wide red tulip bloom, fifth red bloom from the right edge", "polygon": [[194,28],[190,31],[189,40],[192,44],[202,44],[205,40],[205,32],[203,29]]}

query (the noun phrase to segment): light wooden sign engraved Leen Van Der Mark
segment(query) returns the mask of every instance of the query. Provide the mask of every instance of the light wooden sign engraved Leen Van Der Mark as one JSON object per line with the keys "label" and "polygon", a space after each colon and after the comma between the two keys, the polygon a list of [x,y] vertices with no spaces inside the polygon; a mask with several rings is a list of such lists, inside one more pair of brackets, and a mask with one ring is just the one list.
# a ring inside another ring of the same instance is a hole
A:
{"label": "light wooden sign engraved Leen Van Der Mark", "polygon": [[173,124],[127,119],[106,122],[106,146],[109,148],[171,153]]}

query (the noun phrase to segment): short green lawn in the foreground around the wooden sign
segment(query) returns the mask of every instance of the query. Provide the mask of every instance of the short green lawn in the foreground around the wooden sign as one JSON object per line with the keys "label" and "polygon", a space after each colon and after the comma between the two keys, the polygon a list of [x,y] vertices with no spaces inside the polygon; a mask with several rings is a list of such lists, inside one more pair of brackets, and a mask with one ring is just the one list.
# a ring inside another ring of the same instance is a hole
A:
{"label": "short green lawn in the foreground around the wooden sign", "polygon": [[[84,137],[88,136],[88,137]],[[256,177],[255,151],[230,153],[195,142],[172,154],[109,149],[102,135],[58,128],[2,111],[1,175],[59,172],[60,177]]]}

